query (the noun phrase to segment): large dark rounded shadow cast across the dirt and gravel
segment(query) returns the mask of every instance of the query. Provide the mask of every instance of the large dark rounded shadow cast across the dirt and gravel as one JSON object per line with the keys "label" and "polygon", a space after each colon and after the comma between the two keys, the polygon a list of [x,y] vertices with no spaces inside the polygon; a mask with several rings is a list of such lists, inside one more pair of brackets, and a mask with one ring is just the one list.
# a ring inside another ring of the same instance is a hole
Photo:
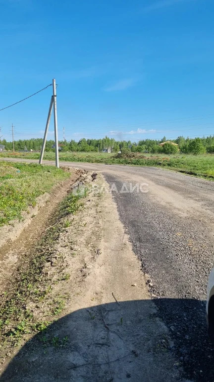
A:
{"label": "large dark rounded shadow cast across the dirt and gravel", "polygon": [[[181,376],[214,381],[205,302],[161,298],[155,303],[157,308],[151,300],[108,303],[56,320],[20,349],[0,381],[172,382]],[[135,327],[124,312],[135,314]]]}

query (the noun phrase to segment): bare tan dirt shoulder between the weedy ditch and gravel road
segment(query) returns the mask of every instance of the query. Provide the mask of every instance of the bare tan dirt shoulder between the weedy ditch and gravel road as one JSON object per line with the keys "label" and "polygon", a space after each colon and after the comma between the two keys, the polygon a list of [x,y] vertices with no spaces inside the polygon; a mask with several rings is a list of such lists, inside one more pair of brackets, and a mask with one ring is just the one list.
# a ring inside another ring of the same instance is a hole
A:
{"label": "bare tan dirt shoulder between the weedy ditch and gravel road", "polygon": [[[19,352],[8,348],[2,382],[186,382],[108,185],[101,175],[94,184],[98,192],[92,188],[84,207],[61,222],[69,224],[51,247],[48,241],[45,300],[25,302],[40,323],[52,323],[23,338]],[[53,302],[62,299],[53,321]]]}

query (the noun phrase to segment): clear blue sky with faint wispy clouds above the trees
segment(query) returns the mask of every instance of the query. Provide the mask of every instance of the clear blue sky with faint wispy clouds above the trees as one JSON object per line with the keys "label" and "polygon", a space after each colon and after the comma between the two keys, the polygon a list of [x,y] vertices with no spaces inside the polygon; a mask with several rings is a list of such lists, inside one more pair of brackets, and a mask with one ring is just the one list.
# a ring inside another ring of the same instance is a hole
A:
{"label": "clear blue sky with faint wispy clouds above the trees", "polygon": [[[213,0],[0,0],[0,108],[55,78],[59,139],[214,134],[213,16]],[[51,92],[0,111],[3,136],[42,137]]]}

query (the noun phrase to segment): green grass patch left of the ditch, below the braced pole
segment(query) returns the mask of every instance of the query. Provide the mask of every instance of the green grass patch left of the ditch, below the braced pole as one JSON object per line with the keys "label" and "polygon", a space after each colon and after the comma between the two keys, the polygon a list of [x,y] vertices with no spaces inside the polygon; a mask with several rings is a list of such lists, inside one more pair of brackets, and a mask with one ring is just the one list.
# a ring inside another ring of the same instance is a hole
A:
{"label": "green grass patch left of the ditch, below the braced pole", "polygon": [[22,211],[35,206],[37,196],[68,177],[55,167],[0,162],[0,225],[21,220]]}

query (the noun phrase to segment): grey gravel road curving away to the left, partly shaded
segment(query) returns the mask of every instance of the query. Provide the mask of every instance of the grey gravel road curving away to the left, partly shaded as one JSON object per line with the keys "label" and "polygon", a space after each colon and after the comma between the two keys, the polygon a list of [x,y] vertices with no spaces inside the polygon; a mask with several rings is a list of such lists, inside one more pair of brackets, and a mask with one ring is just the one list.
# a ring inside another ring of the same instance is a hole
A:
{"label": "grey gravel road curving away to the left, partly shaded", "polygon": [[213,382],[205,299],[214,266],[214,182],[148,167],[61,165],[104,174],[186,377]]}

